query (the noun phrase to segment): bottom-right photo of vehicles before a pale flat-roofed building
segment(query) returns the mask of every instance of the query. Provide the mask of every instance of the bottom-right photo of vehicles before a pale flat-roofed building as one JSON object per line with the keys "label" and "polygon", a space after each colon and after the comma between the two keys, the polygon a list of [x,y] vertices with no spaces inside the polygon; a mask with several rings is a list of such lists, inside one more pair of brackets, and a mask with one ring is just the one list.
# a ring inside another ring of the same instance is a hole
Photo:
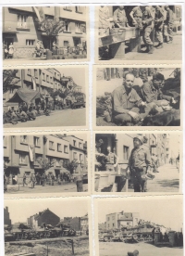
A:
{"label": "bottom-right photo of vehicles before a pale flat-roofed building", "polygon": [[183,255],[183,197],[95,198],[97,256]]}

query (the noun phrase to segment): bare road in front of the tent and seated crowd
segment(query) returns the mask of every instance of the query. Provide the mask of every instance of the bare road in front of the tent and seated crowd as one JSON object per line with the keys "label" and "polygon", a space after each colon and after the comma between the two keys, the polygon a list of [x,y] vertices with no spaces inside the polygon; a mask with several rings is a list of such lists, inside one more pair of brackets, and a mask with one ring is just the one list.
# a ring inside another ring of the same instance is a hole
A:
{"label": "bare road in front of the tent and seated crowd", "polygon": [[50,116],[38,116],[34,121],[4,124],[4,128],[85,126],[86,109],[65,109],[52,111]]}

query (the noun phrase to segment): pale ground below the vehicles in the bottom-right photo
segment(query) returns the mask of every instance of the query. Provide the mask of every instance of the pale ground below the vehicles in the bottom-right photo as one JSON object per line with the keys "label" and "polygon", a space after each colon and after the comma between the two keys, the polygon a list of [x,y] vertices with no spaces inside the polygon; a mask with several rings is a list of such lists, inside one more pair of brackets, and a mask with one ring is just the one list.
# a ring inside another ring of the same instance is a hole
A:
{"label": "pale ground below the vehicles in the bottom-right photo", "polygon": [[155,247],[149,243],[99,243],[100,256],[127,256],[128,251],[139,250],[140,256],[183,256],[182,248]]}

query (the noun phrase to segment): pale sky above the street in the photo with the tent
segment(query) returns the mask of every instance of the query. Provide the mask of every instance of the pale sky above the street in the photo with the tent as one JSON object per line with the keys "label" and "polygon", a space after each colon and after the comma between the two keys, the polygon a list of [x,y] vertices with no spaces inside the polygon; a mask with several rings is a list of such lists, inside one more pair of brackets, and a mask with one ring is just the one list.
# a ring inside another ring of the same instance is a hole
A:
{"label": "pale sky above the street in the photo with the tent", "polygon": [[[77,85],[82,86],[81,92],[85,93],[85,85],[88,83],[88,80],[85,81],[85,69],[83,67],[78,68],[77,66],[72,66],[73,68],[68,68],[68,69],[62,69],[62,68],[57,68],[56,70],[60,71],[61,75],[63,74],[65,76],[71,76],[73,78],[73,81],[77,83]],[[86,82],[86,83],[85,83]]]}

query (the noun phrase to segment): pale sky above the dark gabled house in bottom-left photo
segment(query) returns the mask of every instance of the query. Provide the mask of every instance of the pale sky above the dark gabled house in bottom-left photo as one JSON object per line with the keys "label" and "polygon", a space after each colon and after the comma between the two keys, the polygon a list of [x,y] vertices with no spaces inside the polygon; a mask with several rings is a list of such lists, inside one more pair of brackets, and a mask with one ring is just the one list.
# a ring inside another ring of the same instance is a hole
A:
{"label": "pale sky above the dark gabled house in bottom-left photo", "polygon": [[12,224],[26,222],[31,215],[49,208],[58,217],[82,217],[88,212],[88,201],[84,198],[21,198],[6,199]]}

